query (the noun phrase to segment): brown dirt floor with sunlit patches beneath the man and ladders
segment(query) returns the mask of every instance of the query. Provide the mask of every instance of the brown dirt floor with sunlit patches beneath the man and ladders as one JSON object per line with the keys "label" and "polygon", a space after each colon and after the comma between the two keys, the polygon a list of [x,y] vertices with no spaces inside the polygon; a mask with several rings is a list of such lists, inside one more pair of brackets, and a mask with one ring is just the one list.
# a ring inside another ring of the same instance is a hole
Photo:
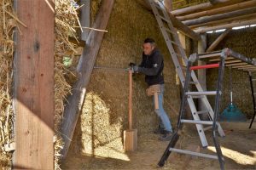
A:
{"label": "brown dirt floor with sunlit patches beneath the man and ladders", "polygon": [[[226,136],[220,138],[225,159],[225,169],[256,169],[256,122],[248,129],[249,122],[223,122]],[[214,154],[211,133],[207,132],[209,147],[200,148],[201,153]],[[120,139],[120,142],[121,139]],[[158,140],[158,135],[148,132],[138,138],[136,152],[125,154],[123,150],[105,146],[108,154],[96,150],[93,156],[83,156],[70,150],[62,169],[219,169],[218,161],[172,153],[165,167],[157,167],[160,156],[168,142]],[[176,148],[199,149],[200,141],[195,126],[183,128],[183,137]],[[104,153],[104,154],[101,154]]]}

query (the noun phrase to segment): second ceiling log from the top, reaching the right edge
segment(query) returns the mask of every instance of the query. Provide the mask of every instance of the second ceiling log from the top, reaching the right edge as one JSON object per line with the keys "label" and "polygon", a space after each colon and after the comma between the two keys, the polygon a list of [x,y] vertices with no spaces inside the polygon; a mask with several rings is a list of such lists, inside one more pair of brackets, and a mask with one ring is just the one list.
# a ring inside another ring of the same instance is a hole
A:
{"label": "second ceiling log from the top, reaching the right edge", "polygon": [[210,10],[201,11],[198,13],[188,14],[188,15],[184,15],[184,16],[177,16],[177,19],[181,20],[181,21],[191,20],[191,19],[199,18],[201,16],[210,16],[213,14],[223,14],[223,13],[235,11],[235,10],[238,10],[241,8],[253,7],[255,5],[256,5],[256,0],[246,1],[243,3],[236,3],[236,4],[229,5],[229,6],[221,7],[221,8],[212,8]]}

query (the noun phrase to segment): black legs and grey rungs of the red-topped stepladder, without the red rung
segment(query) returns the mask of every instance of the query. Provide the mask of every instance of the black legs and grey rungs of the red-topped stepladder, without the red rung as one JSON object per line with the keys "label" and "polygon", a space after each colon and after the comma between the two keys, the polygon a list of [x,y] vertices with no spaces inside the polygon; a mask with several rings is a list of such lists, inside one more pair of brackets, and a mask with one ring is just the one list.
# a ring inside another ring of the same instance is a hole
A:
{"label": "black legs and grey rungs of the red-topped stepladder, without the red rung", "polygon": [[[191,79],[191,65],[193,62],[195,62],[195,54],[191,55],[187,64],[187,71],[186,71],[186,79],[185,79],[185,83],[184,83],[184,88],[183,88],[183,97],[182,97],[182,103],[181,103],[181,108],[180,108],[180,112],[179,112],[179,117],[177,120],[177,130],[173,133],[172,135],[172,139],[170,141],[170,143],[168,144],[163,156],[161,157],[158,165],[160,167],[163,167],[165,165],[165,162],[168,158],[168,156],[171,154],[172,151],[175,151],[177,153],[181,153],[181,154],[189,154],[189,155],[193,155],[193,156],[201,156],[201,157],[206,157],[206,158],[211,158],[211,159],[218,159],[219,165],[221,169],[224,169],[224,156],[222,155],[222,151],[220,149],[220,145],[218,144],[218,135],[217,135],[217,131],[218,131],[218,113],[219,113],[219,103],[220,103],[220,97],[221,97],[221,88],[222,88],[222,82],[223,82],[223,77],[224,77],[224,60],[225,60],[225,56],[223,55],[223,57],[220,59],[220,63],[218,66],[218,83],[217,83],[217,91],[215,91],[216,94],[216,98],[215,98],[215,106],[214,106],[214,116],[213,116],[213,120],[212,120],[212,139],[213,139],[213,143],[214,146],[216,148],[216,152],[217,152],[217,156],[214,155],[210,155],[210,154],[203,154],[203,153],[198,153],[198,152],[193,152],[193,151],[189,151],[189,150],[178,150],[175,149],[174,146],[177,143],[177,140],[180,137],[180,131],[182,130],[183,127],[183,122],[193,122],[192,120],[184,120],[184,111],[185,111],[185,105],[188,103],[187,98],[189,98],[189,96],[191,95],[191,92],[189,92],[189,82]],[[204,95],[204,93],[199,93]],[[206,94],[206,93],[205,93]],[[214,94],[213,92],[210,92],[208,94]],[[210,122],[206,122],[206,121],[194,121],[194,123],[201,123],[201,124],[210,124]]]}

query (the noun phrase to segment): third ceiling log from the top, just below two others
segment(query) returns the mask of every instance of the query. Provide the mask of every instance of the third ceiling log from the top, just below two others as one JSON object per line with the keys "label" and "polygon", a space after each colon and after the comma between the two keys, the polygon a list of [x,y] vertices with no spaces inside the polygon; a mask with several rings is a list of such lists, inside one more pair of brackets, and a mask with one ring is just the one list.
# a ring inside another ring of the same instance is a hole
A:
{"label": "third ceiling log from the top, just below two others", "polygon": [[228,18],[232,18],[232,17],[236,17],[236,16],[241,16],[241,15],[245,15],[245,14],[253,14],[253,13],[256,13],[256,7],[243,8],[240,10],[231,11],[229,13],[224,13],[224,14],[215,14],[215,15],[211,15],[211,16],[204,16],[199,19],[185,20],[185,21],[183,21],[183,24],[186,26],[193,26],[193,25],[207,23],[207,22],[211,22],[211,21],[215,21],[215,20],[224,20],[224,19],[228,19]]}

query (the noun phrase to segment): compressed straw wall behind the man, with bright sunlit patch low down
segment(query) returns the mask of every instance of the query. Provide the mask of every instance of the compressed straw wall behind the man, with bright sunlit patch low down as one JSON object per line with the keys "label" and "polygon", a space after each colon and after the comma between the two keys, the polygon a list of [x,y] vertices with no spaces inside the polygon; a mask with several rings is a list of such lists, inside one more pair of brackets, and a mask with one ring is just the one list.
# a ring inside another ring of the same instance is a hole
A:
{"label": "compressed straw wall behind the man, with bright sunlit patch low down", "polygon": [[[177,116],[170,105],[178,111],[180,90],[175,85],[175,68],[154,14],[143,8],[137,0],[115,0],[107,30],[96,59],[96,65],[99,66],[127,68],[130,62],[139,64],[143,40],[146,37],[155,39],[165,57],[164,106],[175,126]],[[68,156],[81,153],[127,161],[123,150],[123,131],[128,127],[128,87],[128,73],[125,71],[97,69],[92,72]],[[133,127],[138,129],[138,143],[142,134],[152,133],[158,125],[152,98],[146,95],[146,88],[144,76],[134,75]]]}

